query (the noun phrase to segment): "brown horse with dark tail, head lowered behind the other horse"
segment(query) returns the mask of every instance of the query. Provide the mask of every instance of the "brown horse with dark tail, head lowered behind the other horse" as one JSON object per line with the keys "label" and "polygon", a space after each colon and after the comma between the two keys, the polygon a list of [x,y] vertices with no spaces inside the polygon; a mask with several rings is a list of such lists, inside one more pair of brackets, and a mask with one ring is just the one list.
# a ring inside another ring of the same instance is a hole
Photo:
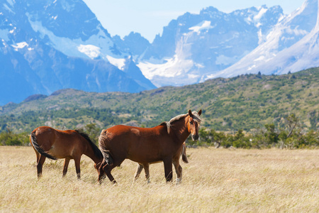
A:
{"label": "brown horse with dark tail, head lowered behind the other horse", "polygon": [[78,179],[81,178],[80,161],[83,154],[94,161],[96,170],[98,170],[103,160],[103,155],[99,148],[86,133],[79,130],[61,131],[48,126],[40,126],[32,131],[30,143],[37,155],[38,178],[42,176],[45,158],[52,160],[65,158],[62,177],[67,174],[69,160],[74,159]]}

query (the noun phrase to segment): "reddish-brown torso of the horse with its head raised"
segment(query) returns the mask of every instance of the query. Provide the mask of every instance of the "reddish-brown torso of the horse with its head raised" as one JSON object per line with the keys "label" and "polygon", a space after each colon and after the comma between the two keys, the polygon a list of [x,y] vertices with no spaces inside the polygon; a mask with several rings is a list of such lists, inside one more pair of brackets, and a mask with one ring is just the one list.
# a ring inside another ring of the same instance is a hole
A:
{"label": "reddish-brown torso of the horse with its head raised", "polygon": [[174,152],[174,143],[165,126],[113,126],[101,132],[99,146],[102,151],[110,151],[113,156],[139,163],[162,160],[165,155]]}

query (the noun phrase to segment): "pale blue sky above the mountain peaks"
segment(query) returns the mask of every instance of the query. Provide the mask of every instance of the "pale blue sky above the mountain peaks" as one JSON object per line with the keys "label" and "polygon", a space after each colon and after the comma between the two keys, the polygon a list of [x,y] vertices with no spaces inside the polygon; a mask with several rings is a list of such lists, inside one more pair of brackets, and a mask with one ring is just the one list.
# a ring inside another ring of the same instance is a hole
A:
{"label": "pale blue sky above the mountain peaks", "polygon": [[112,36],[123,38],[130,32],[140,33],[152,43],[155,35],[162,35],[169,21],[186,12],[199,13],[213,6],[230,13],[236,9],[279,5],[285,14],[295,11],[305,0],[84,0],[87,6]]}

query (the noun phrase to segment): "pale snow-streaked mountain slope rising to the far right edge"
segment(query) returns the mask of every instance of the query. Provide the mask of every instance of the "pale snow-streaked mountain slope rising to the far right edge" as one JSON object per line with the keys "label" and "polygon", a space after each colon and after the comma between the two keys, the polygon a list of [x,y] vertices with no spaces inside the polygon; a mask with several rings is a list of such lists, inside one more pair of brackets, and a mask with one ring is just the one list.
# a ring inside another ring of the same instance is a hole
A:
{"label": "pale snow-streaked mountain slope rising to the far right edge", "polygon": [[242,60],[208,77],[233,77],[243,73],[284,74],[319,66],[318,0],[306,0],[283,18],[264,43]]}

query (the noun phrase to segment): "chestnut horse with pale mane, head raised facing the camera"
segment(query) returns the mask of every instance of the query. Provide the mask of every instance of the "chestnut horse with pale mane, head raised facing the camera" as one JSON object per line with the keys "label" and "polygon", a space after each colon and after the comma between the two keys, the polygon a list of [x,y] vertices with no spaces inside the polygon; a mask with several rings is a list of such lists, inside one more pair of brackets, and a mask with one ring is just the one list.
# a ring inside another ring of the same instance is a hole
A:
{"label": "chestnut horse with pale mane, head raised facing the camera", "polygon": [[180,180],[182,169],[179,155],[182,144],[189,134],[194,141],[198,139],[200,115],[201,110],[198,113],[189,110],[189,113],[153,128],[118,125],[104,129],[99,137],[99,147],[104,157],[99,168],[99,182],[106,173],[108,179],[116,183],[111,170],[121,165],[126,158],[140,164],[163,161],[167,182],[172,181],[173,163],[177,179]]}

